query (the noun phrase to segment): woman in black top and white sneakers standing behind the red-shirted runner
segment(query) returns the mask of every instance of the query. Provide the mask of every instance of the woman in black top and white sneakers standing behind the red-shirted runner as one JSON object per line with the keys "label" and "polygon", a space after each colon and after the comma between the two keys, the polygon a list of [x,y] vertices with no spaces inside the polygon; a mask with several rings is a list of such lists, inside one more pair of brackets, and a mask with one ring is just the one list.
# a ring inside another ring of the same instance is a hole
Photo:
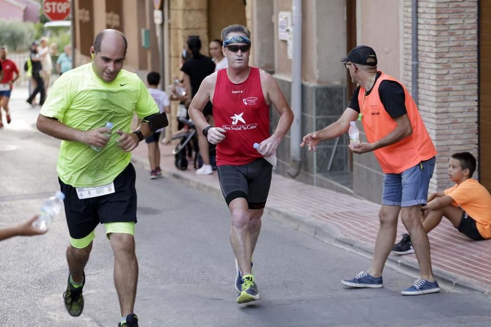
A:
{"label": "woman in black top and white sneakers standing behind the red-shirted runner", "polygon": [[[215,71],[215,63],[207,56],[202,55],[201,40],[198,36],[190,36],[188,38],[188,49],[191,51],[192,57],[186,61],[181,67],[181,71],[184,73],[184,86],[187,94],[190,94],[191,99],[198,92],[199,86],[206,76],[213,74]],[[213,121],[213,106],[208,102],[203,109],[203,114],[207,118],[208,123],[214,126]],[[203,159],[203,166],[196,170],[198,175],[209,175],[213,173],[212,166],[210,165],[210,153],[209,144],[206,137],[203,136],[201,131],[198,131],[198,147],[201,158]]]}

